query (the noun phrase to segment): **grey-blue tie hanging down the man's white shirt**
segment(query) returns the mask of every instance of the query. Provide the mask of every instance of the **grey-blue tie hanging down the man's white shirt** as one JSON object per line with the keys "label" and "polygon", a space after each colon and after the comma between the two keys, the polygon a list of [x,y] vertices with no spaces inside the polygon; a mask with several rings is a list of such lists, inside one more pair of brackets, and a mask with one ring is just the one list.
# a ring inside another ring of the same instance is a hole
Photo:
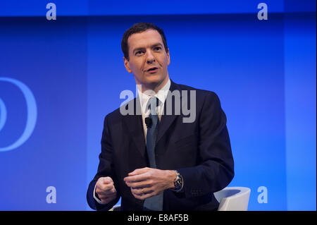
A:
{"label": "grey-blue tie hanging down the man's white shirt", "polygon": [[[149,99],[148,107],[150,107],[150,125],[147,128],[147,155],[149,157],[149,166],[156,168],[155,162],[155,142],[159,128],[159,116],[156,114],[156,107],[159,103],[159,99],[151,97]],[[162,211],[163,209],[163,193],[148,197],[144,200],[144,210]]]}

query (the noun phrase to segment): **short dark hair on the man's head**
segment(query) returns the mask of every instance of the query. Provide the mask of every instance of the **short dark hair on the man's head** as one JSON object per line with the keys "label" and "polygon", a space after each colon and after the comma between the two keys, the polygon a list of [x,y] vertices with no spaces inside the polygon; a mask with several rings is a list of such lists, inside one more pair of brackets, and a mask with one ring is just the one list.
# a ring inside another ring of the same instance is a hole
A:
{"label": "short dark hair on the man's head", "polygon": [[164,44],[165,51],[166,53],[168,53],[166,37],[164,35],[164,31],[162,28],[157,27],[153,23],[135,23],[135,25],[132,25],[131,28],[129,28],[128,30],[125,30],[125,33],[123,34],[122,41],[121,41],[121,49],[123,51],[125,59],[128,59],[128,61],[129,61],[128,38],[133,34],[144,32],[146,30],[156,30],[157,32],[159,32]]}

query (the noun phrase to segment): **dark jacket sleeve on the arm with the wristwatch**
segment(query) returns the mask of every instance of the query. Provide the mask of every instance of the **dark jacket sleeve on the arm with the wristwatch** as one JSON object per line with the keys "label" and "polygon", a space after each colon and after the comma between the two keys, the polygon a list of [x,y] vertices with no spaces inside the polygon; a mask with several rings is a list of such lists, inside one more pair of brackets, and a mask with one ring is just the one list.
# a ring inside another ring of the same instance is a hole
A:
{"label": "dark jacket sleeve on the arm with the wristwatch", "polygon": [[205,96],[197,119],[199,163],[178,169],[183,178],[185,197],[215,193],[228,186],[234,176],[227,119],[214,92]]}

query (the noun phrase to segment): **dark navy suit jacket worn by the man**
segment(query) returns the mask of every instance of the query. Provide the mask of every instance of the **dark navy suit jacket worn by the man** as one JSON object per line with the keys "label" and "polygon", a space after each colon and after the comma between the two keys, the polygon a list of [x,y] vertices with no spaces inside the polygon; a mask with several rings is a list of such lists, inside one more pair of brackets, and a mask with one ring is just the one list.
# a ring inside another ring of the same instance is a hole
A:
{"label": "dark navy suit jacket worn by the man", "polygon": [[[164,190],[163,210],[215,210],[219,203],[213,193],[228,186],[234,176],[226,116],[214,92],[178,85],[171,80],[170,91],[174,90],[180,93],[187,90],[188,109],[190,90],[196,92],[196,118],[193,123],[184,123],[182,118],[186,116],[174,110],[172,115],[161,117],[155,148],[157,168],[178,170],[184,182],[180,193]],[[182,98],[184,95],[180,95]],[[125,109],[133,106],[136,112],[139,99],[130,103]],[[149,162],[142,115],[123,116],[120,109],[111,112],[104,119],[98,171],[87,190],[89,206],[108,210],[122,197],[121,210],[142,210],[144,201],[132,195],[123,178],[143,167],[149,167]],[[118,192],[116,200],[106,205],[93,197],[94,186],[101,176],[110,176]]]}

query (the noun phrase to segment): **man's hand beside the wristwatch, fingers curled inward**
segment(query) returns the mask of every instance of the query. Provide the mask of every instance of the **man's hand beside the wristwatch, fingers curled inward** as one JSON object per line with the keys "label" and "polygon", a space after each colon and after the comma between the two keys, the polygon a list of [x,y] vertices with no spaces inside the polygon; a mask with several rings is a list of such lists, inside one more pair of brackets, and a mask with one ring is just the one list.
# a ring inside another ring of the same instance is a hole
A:
{"label": "man's hand beside the wristwatch, fingers curled inward", "polygon": [[153,168],[135,169],[123,180],[130,187],[131,193],[139,200],[159,195],[168,188],[174,188],[176,172]]}

